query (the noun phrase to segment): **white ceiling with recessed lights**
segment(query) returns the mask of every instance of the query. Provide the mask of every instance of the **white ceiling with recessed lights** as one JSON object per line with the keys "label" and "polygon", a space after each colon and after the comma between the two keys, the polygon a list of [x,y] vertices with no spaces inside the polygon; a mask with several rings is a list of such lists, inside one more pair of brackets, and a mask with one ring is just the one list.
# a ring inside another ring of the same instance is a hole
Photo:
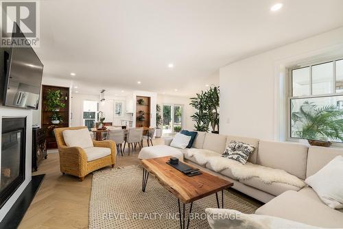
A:
{"label": "white ceiling with recessed lights", "polygon": [[229,62],[343,26],[342,9],[342,0],[45,0],[36,52],[45,75],[98,91],[189,96]]}

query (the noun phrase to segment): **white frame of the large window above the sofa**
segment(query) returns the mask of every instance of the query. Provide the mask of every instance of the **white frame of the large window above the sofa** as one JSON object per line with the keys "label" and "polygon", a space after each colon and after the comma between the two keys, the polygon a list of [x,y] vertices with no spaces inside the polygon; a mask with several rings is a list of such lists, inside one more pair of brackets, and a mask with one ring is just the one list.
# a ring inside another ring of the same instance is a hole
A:
{"label": "white frame of the large window above the sofa", "polygon": [[[292,120],[291,120],[291,102],[292,99],[314,99],[314,98],[323,98],[323,97],[334,97],[334,96],[343,96],[342,93],[336,93],[336,80],[337,80],[337,73],[336,73],[336,62],[343,60],[343,56],[329,58],[325,60],[318,60],[315,62],[306,62],[304,64],[297,64],[292,67],[287,68],[287,76],[288,76],[288,88],[287,88],[287,141],[299,141],[303,138],[292,137]],[[329,62],[333,62],[333,91],[334,93],[326,93],[321,95],[313,95],[312,93],[312,67],[319,65],[319,64],[326,64]],[[309,67],[309,95],[301,95],[301,96],[293,96],[293,71],[296,69],[303,69]],[[334,146],[343,147],[343,143],[332,141]]]}

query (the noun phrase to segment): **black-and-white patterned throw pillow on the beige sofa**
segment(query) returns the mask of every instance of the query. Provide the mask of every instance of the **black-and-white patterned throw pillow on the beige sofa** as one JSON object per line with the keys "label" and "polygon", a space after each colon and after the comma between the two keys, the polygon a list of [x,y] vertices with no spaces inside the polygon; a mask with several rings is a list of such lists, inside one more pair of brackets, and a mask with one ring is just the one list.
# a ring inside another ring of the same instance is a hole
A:
{"label": "black-and-white patterned throw pillow on the beige sofa", "polygon": [[224,154],[222,154],[222,157],[237,160],[242,164],[246,164],[246,161],[254,150],[255,147],[252,145],[241,143],[240,141],[231,141],[226,147]]}

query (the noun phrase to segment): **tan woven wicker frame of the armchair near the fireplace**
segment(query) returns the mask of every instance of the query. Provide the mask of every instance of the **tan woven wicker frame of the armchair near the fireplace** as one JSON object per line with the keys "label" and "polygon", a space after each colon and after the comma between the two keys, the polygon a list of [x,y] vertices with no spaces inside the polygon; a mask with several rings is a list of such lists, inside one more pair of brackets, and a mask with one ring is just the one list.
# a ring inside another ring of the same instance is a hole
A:
{"label": "tan woven wicker frame of the armchair near the fireplace", "polygon": [[62,132],[64,130],[80,130],[83,128],[86,128],[86,126],[76,128],[56,128],[54,130],[58,145],[58,153],[60,154],[60,171],[63,174],[68,173],[73,176],[77,176],[80,178],[80,181],[83,181],[84,177],[92,171],[109,165],[114,167],[117,154],[115,142],[110,140],[93,140],[93,145],[95,147],[110,148],[111,154],[89,162],[87,161],[87,155],[84,152],[84,149],[81,147],[67,147],[66,143],[64,142]]}

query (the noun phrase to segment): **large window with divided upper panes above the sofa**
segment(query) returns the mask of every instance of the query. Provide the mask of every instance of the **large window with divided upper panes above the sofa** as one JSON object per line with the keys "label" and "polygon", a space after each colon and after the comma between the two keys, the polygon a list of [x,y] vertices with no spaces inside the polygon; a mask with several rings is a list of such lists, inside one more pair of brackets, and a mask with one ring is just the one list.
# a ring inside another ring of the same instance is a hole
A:
{"label": "large window with divided upper panes above the sofa", "polygon": [[289,136],[343,143],[343,60],[290,73]]}

